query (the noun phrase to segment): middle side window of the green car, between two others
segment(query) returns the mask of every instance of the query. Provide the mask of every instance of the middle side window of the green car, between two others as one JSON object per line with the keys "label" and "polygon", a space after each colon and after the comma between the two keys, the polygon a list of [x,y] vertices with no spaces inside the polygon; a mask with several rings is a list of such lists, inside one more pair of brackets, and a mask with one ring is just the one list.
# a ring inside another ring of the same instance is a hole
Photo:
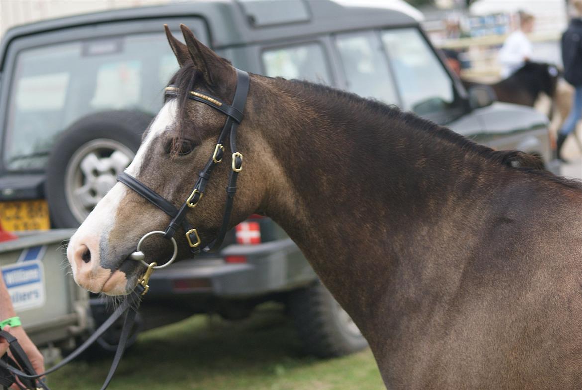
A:
{"label": "middle side window of the green car, between two others", "polygon": [[338,35],[336,45],[350,92],[398,103],[386,55],[373,31]]}

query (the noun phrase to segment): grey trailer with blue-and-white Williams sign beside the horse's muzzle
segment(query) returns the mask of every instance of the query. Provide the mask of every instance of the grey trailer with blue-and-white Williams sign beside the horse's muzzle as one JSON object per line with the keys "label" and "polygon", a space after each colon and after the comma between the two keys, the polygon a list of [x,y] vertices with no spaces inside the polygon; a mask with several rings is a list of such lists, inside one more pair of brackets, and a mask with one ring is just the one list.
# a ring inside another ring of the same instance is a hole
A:
{"label": "grey trailer with blue-and-white Williams sign beside the horse's muzzle", "polygon": [[68,275],[62,243],[72,234],[26,231],[0,242],[0,270],[16,313],[48,361],[55,348],[70,349],[93,328],[88,293]]}

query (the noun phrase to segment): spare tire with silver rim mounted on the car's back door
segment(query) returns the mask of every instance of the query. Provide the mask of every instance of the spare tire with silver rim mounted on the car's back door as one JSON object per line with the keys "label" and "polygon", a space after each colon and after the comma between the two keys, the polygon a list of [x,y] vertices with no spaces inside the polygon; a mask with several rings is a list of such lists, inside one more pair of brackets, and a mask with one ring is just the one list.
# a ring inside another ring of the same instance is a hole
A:
{"label": "spare tire with silver rim mounted on the car's back door", "polygon": [[140,111],[86,115],[66,129],[47,163],[52,226],[77,227],[135,156],[152,116]]}

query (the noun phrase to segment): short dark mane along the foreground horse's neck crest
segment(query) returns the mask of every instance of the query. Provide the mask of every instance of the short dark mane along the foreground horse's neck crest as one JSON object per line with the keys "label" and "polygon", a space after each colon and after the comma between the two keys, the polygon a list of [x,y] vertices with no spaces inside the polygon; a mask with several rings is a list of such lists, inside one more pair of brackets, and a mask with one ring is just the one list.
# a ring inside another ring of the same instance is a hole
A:
{"label": "short dark mane along the foreground horse's neck crest", "polygon": [[582,182],[559,177],[546,171],[544,161],[540,156],[520,152],[519,150],[491,149],[491,147],[480,145],[465,138],[448,127],[421,118],[412,111],[403,111],[401,108],[393,104],[385,104],[379,100],[364,98],[352,92],[334,89],[326,85],[312,83],[306,80],[286,80],[283,78],[272,79],[281,80],[282,82],[290,82],[292,85],[300,86],[310,92],[324,95],[325,99],[318,99],[318,101],[347,100],[356,103],[359,106],[364,106],[375,114],[385,115],[388,119],[404,122],[417,131],[445,140],[447,143],[459,147],[463,152],[480,156],[496,166],[506,167],[520,171],[524,174],[545,178],[546,180],[565,185],[569,188],[582,189]]}

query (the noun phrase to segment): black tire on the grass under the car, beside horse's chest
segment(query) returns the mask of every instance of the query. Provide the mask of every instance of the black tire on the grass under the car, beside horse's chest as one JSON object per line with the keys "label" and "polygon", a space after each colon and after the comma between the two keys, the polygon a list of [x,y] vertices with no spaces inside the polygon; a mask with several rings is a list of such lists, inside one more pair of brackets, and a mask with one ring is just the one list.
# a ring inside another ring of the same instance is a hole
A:
{"label": "black tire on the grass under the car, beside horse's chest", "polygon": [[356,324],[320,282],[292,291],[287,304],[307,353],[336,357],[367,347]]}

